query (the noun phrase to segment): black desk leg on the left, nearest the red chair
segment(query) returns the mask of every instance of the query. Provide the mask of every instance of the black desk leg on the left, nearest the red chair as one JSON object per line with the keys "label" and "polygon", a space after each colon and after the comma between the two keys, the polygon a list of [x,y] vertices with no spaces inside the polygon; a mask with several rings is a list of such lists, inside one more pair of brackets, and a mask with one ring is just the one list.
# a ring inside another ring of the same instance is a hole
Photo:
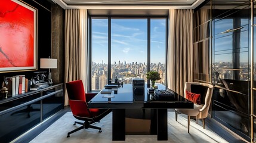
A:
{"label": "black desk leg on the left, nearest the red chair", "polygon": [[112,141],[125,141],[125,109],[113,109]]}

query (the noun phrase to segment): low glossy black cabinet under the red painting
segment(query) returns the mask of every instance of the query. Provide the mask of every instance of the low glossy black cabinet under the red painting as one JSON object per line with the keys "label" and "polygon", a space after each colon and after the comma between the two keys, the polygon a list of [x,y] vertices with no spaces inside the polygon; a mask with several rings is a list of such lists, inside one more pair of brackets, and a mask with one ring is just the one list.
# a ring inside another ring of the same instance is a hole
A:
{"label": "low glossy black cabinet under the red painting", "polygon": [[10,142],[64,108],[63,84],[0,100],[0,141]]}

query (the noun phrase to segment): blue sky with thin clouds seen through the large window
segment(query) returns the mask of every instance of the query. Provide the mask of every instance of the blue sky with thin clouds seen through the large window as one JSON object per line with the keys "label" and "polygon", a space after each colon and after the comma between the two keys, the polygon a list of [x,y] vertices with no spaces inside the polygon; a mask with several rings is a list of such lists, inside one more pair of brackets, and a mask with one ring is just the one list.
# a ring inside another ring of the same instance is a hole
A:
{"label": "blue sky with thin clouds seen through the large window", "polygon": [[[112,63],[147,61],[147,19],[111,21]],[[151,63],[165,63],[165,19],[151,20]],[[92,61],[107,63],[107,19],[92,20]]]}

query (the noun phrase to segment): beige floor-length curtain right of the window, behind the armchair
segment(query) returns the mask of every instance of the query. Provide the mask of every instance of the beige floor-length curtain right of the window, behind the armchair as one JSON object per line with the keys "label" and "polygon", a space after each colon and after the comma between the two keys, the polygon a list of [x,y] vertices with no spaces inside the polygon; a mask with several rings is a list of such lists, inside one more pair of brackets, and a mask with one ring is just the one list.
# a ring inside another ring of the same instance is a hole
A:
{"label": "beige floor-length curtain right of the window, behind the armchair", "polygon": [[193,10],[169,10],[167,49],[168,88],[183,95],[185,82],[193,79]]}

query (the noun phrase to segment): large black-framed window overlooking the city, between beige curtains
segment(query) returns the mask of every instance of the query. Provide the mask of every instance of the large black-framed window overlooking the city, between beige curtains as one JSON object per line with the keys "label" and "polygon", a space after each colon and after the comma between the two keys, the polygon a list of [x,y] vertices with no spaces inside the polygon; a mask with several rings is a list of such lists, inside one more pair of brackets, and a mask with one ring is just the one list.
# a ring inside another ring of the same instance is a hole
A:
{"label": "large black-framed window overlooking the city, between beige curtains", "polygon": [[156,83],[166,84],[166,17],[91,17],[90,25],[92,91],[116,79],[147,82],[149,70],[161,74]]}

